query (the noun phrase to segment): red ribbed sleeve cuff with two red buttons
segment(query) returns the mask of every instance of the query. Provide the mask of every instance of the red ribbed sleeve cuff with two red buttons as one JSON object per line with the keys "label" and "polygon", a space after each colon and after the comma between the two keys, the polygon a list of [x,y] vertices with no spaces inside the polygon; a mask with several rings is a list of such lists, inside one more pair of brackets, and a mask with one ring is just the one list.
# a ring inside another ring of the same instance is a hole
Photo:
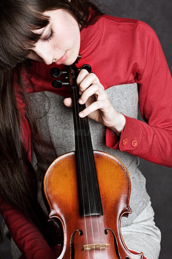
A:
{"label": "red ribbed sleeve cuff with two red buttons", "polygon": [[106,146],[120,151],[134,151],[140,144],[141,126],[137,119],[128,116],[125,119],[126,125],[120,137],[112,129],[106,129]]}

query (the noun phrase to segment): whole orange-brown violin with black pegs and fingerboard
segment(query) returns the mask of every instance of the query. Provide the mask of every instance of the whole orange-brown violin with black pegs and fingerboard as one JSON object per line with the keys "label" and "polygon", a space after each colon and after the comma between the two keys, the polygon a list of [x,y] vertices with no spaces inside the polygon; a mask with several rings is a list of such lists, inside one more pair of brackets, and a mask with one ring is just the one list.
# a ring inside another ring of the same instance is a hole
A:
{"label": "whole orange-brown violin with black pegs and fingerboard", "polygon": [[[132,212],[129,173],[116,157],[93,151],[88,118],[78,115],[85,104],[78,102],[76,78],[80,69],[75,63],[64,71],[51,69],[53,77],[69,79],[56,79],[52,86],[70,85],[75,133],[75,151],[54,160],[43,183],[49,220],[55,220],[61,230],[58,259],[142,259],[143,253],[128,250],[120,229],[121,217]],[[87,64],[82,68],[91,72]]]}

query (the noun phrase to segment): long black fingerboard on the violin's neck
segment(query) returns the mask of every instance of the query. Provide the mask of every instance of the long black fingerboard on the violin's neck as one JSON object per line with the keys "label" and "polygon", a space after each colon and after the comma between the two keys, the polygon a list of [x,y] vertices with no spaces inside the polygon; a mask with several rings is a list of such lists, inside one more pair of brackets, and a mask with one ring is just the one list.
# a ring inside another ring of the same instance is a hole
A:
{"label": "long black fingerboard on the violin's neck", "polygon": [[88,118],[80,118],[78,115],[85,104],[78,103],[80,96],[76,83],[71,86],[71,95],[80,216],[103,215]]}

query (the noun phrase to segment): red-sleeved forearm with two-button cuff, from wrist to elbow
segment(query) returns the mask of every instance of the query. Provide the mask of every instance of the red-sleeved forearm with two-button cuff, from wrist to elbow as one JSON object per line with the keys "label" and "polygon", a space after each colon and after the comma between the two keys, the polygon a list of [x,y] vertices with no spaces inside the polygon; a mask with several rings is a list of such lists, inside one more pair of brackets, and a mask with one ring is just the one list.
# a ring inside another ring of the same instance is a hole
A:
{"label": "red-sleeved forearm with two-button cuff, from wrist to elbow", "polygon": [[125,129],[118,137],[107,128],[106,144],[148,161],[172,167],[172,132],[127,117]]}

